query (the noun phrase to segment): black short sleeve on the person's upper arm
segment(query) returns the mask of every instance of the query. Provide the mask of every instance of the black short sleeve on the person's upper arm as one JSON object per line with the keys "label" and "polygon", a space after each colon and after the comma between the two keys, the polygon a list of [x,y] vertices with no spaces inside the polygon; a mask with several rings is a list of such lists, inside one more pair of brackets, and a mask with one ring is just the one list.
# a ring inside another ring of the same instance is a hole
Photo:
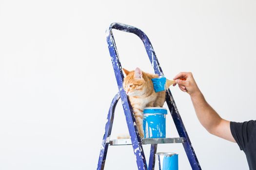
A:
{"label": "black short sleeve on the person's upper arm", "polygon": [[250,136],[253,133],[254,124],[256,120],[245,121],[242,123],[230,122],[230,130],[233,137],[236,140],[240,150],[245,151],[247,144],[250,140]]}

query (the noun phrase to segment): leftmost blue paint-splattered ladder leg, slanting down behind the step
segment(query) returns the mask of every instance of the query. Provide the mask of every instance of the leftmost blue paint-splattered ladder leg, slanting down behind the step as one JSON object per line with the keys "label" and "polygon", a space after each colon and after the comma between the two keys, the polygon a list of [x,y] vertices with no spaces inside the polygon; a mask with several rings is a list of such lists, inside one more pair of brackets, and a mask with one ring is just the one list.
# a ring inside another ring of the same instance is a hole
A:
{"label": "leftmost blue paint-splattered ladder leg, slanting down behind the step", "polygon": [[118,94],[116,94],[116,96],[112,100],[109,111],[108,111],[107,123],[105,125],[105,133],[104,133],[101,148],[100,148],[97,170],[103,170],[104,169],[106,156],[107,156],[107,152],[108,152],[108,146],[109,146],[109,143],[108,143],[107,140],[111,135],[115,108],[116,108],[116,105],[117,105],[119,99],[120,99],[120,94],[118,93]]}

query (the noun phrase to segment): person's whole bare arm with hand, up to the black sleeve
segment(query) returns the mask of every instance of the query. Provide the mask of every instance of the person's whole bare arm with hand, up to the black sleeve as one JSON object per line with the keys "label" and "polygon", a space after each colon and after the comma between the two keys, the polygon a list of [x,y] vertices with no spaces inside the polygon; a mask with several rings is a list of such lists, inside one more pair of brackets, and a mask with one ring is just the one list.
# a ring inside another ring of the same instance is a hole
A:
{"label": "person's whole bare arm with hand, up to the black sleeve", "polygon": [[[185,78],[186,80],[180,80]],[[208,104],[199,90],[191,72],[180,72],[175,78],[180,90],[187,92],[194,105],[197,118],[202,126],[211,134],[236,142],[230,130],[230,121],[222,119]]]}

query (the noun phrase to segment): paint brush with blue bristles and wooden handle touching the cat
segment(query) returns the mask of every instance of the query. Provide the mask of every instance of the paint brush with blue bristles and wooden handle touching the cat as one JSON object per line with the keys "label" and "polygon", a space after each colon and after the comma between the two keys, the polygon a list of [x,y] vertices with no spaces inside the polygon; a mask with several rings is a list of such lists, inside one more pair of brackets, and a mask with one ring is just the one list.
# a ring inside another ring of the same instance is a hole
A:
{"label": "paint brush with blue bristles and wooden handle touching the cat", "polygon": [[[159,77],[151,79],[153,82],[155,92],[163,91],[168,89],[171,85],[176,84],[174,80],[168,80],[165,77]],[[179,80],[186,80],[185,78],[180,78]]]}

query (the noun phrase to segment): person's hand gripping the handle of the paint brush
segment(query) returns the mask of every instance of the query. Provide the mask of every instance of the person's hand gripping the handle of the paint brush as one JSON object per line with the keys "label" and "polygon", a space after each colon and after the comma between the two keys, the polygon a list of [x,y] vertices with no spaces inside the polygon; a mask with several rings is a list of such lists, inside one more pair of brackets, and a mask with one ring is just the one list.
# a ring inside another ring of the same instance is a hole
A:
{"label": "person's hand gripping the handle of the paint brush", "polygon": [[[180,80],[180,79],[186,80]],[[174,78],[181,91],[187,92],[190,96],[201,93],[191,72],[180,72]],[[173,86],[175,86],[174,84]]]}

